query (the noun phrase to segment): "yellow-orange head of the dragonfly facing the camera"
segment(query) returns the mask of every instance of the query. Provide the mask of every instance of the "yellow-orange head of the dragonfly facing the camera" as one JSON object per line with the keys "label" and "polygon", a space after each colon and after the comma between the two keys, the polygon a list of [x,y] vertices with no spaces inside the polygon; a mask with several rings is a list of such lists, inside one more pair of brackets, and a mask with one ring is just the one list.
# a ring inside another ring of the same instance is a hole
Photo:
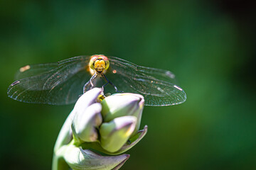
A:
{"label": "yellow-orange head of the dragonfly facing the camera", "polygon": [[102,73],[110,67],[110,61],[105,55],[92,55],[90,68],[98,73]]}

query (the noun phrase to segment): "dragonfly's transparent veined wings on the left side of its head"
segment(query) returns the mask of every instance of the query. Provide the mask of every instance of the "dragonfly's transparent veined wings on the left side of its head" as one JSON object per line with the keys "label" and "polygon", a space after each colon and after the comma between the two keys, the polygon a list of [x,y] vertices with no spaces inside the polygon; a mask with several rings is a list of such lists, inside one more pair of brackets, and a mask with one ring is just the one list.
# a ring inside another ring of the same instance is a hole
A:
{"label": "dragonfly's transparent veined wings on the left side of its head", "polygon": [[90,56],[78,56],[49,64],[21,67],[18,81],[9,86],[10,98],[26,103],[63,105],[74,103],[90,79]]}

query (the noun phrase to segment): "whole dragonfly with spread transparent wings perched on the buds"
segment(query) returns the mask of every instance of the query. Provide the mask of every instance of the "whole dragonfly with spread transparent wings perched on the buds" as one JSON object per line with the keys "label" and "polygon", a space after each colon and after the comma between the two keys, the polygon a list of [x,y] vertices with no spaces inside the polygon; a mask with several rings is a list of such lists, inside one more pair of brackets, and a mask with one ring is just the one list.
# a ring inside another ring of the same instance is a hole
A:
{"label": "whole dragonfly with spread transparent wings perched on the buds", "polygon": [[141,94],[145,106],[171,106],[186,101],[186,93],[176,85],[172,72],[105,55],[26,65],[18,70],[16,79],[7,94],[26,103],[75,103],[81,94],[97,86],[108,87],[112,93]]}

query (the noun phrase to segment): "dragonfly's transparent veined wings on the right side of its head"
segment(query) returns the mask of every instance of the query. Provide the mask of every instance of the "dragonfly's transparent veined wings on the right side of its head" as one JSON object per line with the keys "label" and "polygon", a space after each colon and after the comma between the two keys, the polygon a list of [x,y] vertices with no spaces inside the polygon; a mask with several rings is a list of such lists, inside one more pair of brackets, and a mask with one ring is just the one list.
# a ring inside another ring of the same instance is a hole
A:
{"label": "dragonfly's transparent veined wings on the right side of its head", "polygon": [[119,91],[142,94],[146,106],[171,106],[186,101],[186,94],[175,84],[175,76],[164,69],[141,67],[132,62],[109,57],[107,79]]}

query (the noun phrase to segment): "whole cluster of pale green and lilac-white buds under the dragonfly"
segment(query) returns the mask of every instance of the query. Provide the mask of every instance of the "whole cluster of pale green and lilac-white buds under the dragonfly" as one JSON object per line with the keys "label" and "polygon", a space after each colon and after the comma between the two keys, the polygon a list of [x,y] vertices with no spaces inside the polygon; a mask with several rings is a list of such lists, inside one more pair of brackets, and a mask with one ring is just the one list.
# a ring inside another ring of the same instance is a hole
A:
{"label": "whole cluster of pale green and lilac-white buds under the dragonfly", "polygon": [[146,126],[139,130],[143,96],[114,94],[98,102],[100,94],[95,88],[78,99],[55,143],[53,170],[119,169],[129,159],[122,153],[146,135]]}

